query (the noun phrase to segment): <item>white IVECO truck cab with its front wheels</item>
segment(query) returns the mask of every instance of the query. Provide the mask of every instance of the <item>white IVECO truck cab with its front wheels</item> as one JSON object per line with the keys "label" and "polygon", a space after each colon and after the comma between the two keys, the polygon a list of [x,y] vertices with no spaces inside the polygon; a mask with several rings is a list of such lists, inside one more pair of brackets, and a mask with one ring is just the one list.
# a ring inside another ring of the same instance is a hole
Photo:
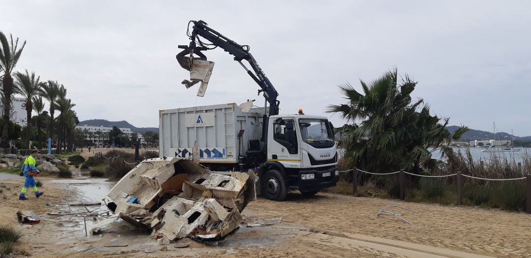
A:
{"label": "white IVECO truck cab with its front wheels", "polygon": [[336,185],[337,146],[327,117],[299,110],[268,120],[267,161],[259,167],[262,195],[282,201],[288,190],[314,195]]}

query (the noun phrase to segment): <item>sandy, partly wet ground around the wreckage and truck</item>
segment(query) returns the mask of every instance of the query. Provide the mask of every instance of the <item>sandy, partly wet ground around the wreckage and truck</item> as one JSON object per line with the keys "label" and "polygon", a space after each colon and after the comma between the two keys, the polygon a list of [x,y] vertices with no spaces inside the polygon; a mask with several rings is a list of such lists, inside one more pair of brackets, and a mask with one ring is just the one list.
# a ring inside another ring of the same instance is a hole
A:
{"label": "sandy, partly wet ground around the wreckage and truck", "polygon": [[[67,211],[65,196],[69,201],[101,199],[113,183],[84,175],[40,179],[45,195],[40,199],[30,195],[23,203],[17,199],[22,178],[0,182],[6,195],[0,221],[16,225],[19,209],[32,209],[41,216],[39,225],[23,228],[27,235],[18,245],[32,257],[531,257],[531,216],[524,213],[322,193],[310,199],[289,193],[285,202],[256,200],[244,210],[245,221],[282,217],[282,222],[242,227],[211,245],[183,239],[179,242],[190,246],[161,246],[150,232],[123,221],[104,228],[102,235],[85,237],[83,217],[46,212]],[[419,211],[400,212],[414,225],[396,217],[376,217],[390,204]],[[92,223],[89,219],[89,227]]]}

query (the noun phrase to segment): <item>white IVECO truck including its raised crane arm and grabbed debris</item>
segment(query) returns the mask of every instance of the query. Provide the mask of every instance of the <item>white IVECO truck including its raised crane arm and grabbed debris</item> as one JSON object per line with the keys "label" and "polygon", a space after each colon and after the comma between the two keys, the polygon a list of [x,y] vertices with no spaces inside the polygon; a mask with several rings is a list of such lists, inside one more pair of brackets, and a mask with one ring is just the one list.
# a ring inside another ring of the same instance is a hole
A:
{"label": "white IVECO truck including its raised crane arm and grabbed debris", "polygon": [[[176,58],[190,71],[186,88],[201,82],[198,96],[204,96],[214,62],[201,52],[220,48],[234,56],[247,74],[259,85],[266,104],[256,107],[252,101],[242,105],[211,106],[160,110],[160,155],[193,158],[211,170],[254,169],[259,176],[259,193],[281,201],[288,190],[313,195],[322,188],[335,186],[337,150],[333,126],[327,117],[295,114],[279,115],[278,92],[262,71],[249,46],[208,27],[204,21],[190,21],[189,45]],[[249,62],[249,70],[242,61]]]}

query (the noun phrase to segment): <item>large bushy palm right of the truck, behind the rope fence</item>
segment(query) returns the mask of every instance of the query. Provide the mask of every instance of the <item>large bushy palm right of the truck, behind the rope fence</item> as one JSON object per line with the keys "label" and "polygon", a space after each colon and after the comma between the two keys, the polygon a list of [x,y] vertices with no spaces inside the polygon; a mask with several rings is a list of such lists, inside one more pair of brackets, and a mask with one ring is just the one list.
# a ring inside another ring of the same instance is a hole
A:
{"label": "large bushy palm right of the truck, behind the rope fence", "polygon": [[461,126],[449,133],[444,128],[449,118],[431,116],[427,104],[421,108],[422,99],[412,103],[410,93],[417,83],[408,76],[400,84],[397,79],[394,70],[370,83],[361,81],[362,93],[348,83],[341,85],[347,104],[328,108],[328,112],[339,113],[349,123],[339,128],[338,145],[354,166],[375,173],[398,169],[420,173],[438,164],[432,152],[450,152],[450,141],[468,131]]}

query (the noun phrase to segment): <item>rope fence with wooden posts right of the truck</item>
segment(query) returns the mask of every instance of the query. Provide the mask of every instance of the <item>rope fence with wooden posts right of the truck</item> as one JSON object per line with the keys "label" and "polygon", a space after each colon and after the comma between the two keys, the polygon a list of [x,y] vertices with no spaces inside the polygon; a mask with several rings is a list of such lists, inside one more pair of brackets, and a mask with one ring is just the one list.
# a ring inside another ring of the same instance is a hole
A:
{"label": "rope fence with wooden posts right of the truck", "polygon": [[457,195],[457,205],[461,205],[463,203],[463,177],[473,178],[473,179],[479,179],[479,180],[488,180],[488,181],[510,181],[510,180],[524,180],[526,179],[526,212],[531,214],[531,175],[526,175],[525,177],[519,177],[519,178],[482,178],[482,177],[475,177],[475,176],[469,176],[461,174],[460,171],[454,174],[449,175],[441,175],[441,176],[428,176],[428,175],[417,175],[413,173],[409,173],[407,171],[404,171],[404,169],[400,169],[396,172],[391,173],[373,173],[369,171],[364,171],[361,169],[358,169],[354,167],[353,169],[338,171],[338,173],[348,173],[352,171],[352,180],[353,180],[353,193],[355,194],[357,192],[357,186],[358,186],[358,172],[359,173],[365,173],[370,175],[393,175],[398,174],[398,184],[400,188],[400,199],[405,199],[405,190],[406,190],[406,179],[405,175],[411,175],[411,176],[419,176],[419,177],[435,177],[435,178],[442,178],[442,177],[452,177],[456,176],[456,195]]}

